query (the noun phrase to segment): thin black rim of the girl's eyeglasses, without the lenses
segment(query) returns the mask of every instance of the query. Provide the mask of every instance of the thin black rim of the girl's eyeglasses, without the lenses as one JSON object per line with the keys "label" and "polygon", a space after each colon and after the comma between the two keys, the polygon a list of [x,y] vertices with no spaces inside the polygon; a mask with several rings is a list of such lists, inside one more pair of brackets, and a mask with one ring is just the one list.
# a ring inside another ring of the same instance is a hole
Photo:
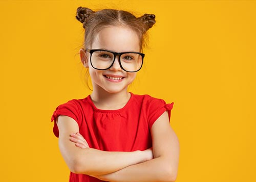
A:
{"label": "thin black rim of the girl's eyeglasses, without the lenses", "polygon": [[[95,68],[92,64],[92,54],[95,52],[95,51],[107,51],[109,53],[112,53],[114,55],[114,60],[113,62],[111,63],[111,65],[108,67],[108,68],[105,68],[105,69],[99,69],[99,68]],[[107,70],[109,68],[111,68],[116,60],[116,56],[119,56],[119,59],[118,59],[118,63],[120,65],[120,68],[122,68],[122,70],[126,71],[126,72],[138,72],[141,68],[142,68],[142,65],[143,65],[143,59],[145,57],[145,54],[143,53],[140,53],[140,52],[136,52],[136,51],[130,51],[130,52],[122,52],[122,53],[117,53],[117,52],[114,52],[114,51],[111,51],[111,50],[105,50],[105,49],[86,49],[86,51],[88,51],[88,53],[90,53],[90,63],[91,63],[91,66],[94,68],[94,69],[97,69],[97,70]],[[141,57],[142,57],[142,62],[141,62],[141,66],[140,68],[137,70],[137,71],[127,71],[123,68],[122,64],[121,64],[121,60],[120,60],[120,57],[123,55],[123,54],[127,54],[127,53],[136,53],[136,54],[139,54]]]}

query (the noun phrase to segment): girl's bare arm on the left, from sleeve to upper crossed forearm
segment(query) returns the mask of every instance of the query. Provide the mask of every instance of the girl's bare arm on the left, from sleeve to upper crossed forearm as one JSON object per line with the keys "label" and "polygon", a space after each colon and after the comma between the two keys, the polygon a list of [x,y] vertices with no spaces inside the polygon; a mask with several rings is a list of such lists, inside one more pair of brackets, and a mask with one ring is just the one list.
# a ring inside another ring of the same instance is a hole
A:
{"label": "girl's bare arm on the left, from sleeve to upper crossed forearm", "polygon": [[107,152],[87,147],[79,148],[70,140],[71,134],[79,132],[77,122],[68,116],[59,116],[57,125],[60,152],[69,169],[74,173],[91,176],[109,174],[152,159],[149,150]]}

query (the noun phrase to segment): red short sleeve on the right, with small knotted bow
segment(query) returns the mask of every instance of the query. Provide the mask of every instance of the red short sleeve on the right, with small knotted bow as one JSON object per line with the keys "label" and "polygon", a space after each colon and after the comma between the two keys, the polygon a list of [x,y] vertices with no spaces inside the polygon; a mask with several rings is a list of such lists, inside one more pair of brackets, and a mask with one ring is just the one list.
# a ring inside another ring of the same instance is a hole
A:
{"label": "red short sleeve on the right, with small knotted bow", "polygon": [[153,98],[148,104],[148,127],[151,129],[155,121],[165,112],[168,112],[170,119],[170,111],[173,109],[174,102],[166,103],[162,99]]}

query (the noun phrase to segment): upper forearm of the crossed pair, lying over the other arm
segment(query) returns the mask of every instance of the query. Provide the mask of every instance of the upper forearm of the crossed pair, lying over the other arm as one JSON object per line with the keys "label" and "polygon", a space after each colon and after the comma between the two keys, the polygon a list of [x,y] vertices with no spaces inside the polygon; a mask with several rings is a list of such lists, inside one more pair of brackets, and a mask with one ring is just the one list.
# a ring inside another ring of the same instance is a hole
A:
{"label": "upper forearm of the crossed pair, lying over the other arm", "polygon": [[152,153],[151,150],[109,152],[94,148],[82,149],[74,145],[71,141],[59,143],[61,154],[68,167],[74,173],[92,176],[113,173],[127,166],[145,162]]}

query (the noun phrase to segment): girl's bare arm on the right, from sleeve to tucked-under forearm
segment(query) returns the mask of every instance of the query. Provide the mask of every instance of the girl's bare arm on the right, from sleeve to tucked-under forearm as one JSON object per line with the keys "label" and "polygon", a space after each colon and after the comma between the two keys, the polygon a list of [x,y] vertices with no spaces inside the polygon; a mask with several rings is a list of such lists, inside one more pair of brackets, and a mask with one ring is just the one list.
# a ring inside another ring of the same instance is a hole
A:
{"label": "girl's bare arm on the right, from sleeve to tucked-under forearm", "polygon": [[153,124],[153,160],[132,165],[117,172],[96,176],[107,181],[175,181],[179,163],[179,141],[165,112]]}

